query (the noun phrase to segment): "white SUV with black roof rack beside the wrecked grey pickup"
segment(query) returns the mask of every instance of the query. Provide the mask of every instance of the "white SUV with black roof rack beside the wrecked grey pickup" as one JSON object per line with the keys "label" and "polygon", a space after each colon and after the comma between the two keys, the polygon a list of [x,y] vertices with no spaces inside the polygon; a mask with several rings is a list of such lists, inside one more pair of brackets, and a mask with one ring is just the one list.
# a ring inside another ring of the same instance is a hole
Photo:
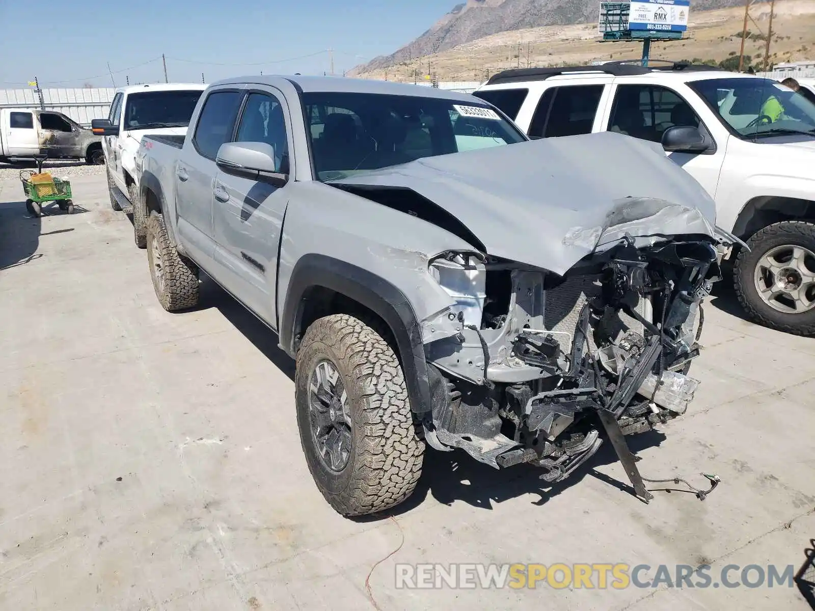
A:
{"label": "white SUV with black roof rack beside the wrecked grey pickup", "polygon": [[749,245],[730,258],[751,319],[815,334],[815,104],[804,95],[705,66],[623,63],[507,70],[474,95],[531,138],[661,143],[716,200],[718,225]]}

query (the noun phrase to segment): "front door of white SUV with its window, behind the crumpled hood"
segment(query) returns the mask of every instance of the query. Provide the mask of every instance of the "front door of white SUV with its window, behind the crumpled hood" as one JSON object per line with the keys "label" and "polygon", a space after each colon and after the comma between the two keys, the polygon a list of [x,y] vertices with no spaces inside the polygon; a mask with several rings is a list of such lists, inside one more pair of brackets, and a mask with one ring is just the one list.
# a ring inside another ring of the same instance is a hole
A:
{"label": "front door of white SUV with its window, behind the crumpled hood", "polygon": [[698,127],[710,143],[707,151],[668,152],[667,156],[696,178],[708,194],[715,198],[719,174],[725,161],[727,134],[718,133],[719,121],[700,116],[707,108],[697,107],[697,112],[697,108],[688,102],[688,97],[688,92],[685,91],[655,85],[653,82],[632,82],[631,78],[626,78],[624,82],[618,82],[614,86],[612,101],[604,121],[605,129],[662,143],[663,134],[674,125]]}

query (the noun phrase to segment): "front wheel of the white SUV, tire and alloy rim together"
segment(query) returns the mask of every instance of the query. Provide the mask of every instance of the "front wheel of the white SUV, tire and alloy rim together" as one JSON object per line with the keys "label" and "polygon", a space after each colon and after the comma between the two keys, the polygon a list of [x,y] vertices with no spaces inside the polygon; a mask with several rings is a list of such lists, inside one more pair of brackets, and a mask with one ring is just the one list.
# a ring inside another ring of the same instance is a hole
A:
{"label": "front wheel of the white SUV, tire and alloy rim together", "polygon": [[764,227],[738,254],[738,300],[756,323],[815,335],[815,224],[785,221]]}

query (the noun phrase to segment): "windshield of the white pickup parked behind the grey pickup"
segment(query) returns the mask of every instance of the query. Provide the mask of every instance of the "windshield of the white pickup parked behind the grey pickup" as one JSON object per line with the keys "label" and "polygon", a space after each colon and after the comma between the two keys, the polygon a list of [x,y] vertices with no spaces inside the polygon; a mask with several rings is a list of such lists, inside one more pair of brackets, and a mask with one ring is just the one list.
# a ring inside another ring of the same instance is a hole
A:
{"label": "windshield of the white pickup parked behind the grey pickup", "polygon": [[203,91],[145,91],[127,96],[125,129],[187,127]]}

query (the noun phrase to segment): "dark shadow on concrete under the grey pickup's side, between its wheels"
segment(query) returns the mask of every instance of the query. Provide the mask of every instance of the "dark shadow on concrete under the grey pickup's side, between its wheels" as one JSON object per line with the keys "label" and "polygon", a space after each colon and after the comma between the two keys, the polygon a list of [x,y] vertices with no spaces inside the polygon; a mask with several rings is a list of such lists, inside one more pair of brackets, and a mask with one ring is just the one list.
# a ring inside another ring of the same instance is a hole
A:
{"label": "dark shadow on concrete under the grey pickup's side, between its wheels", "polygon": [[254,314],[241,306],[234,297],[224,291],[218,284],[203,271],[200,274],[200,303],[204,308],[218,308],[224,318],[233,327],[251,341],[255,348],[268,358],[271,363],[294,380],[294,360],[277,347],[277,333],[272,331]]}

